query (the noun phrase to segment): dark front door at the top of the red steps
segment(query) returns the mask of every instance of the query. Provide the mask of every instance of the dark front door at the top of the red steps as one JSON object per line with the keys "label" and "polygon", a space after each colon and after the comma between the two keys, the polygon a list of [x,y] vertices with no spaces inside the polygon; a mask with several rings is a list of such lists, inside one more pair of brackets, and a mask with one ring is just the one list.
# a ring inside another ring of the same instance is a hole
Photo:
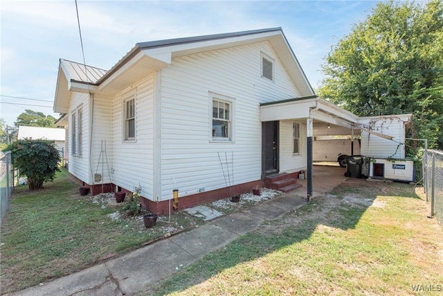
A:
{"label": "dark front door at the top of the red steps", "polygon": [[263,173],[278,173],[278,121],[262,123]]}

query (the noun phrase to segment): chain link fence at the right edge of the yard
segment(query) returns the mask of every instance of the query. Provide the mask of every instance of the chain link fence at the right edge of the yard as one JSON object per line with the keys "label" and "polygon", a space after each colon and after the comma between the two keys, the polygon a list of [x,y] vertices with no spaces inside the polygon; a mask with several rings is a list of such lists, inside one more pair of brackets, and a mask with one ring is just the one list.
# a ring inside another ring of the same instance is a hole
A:
{"label": "chain link fence at the right edge of the yard", "polygon": [[426,201],[431,202],[431,216],[443,225],[443,151],[424,151],[423,160]]}

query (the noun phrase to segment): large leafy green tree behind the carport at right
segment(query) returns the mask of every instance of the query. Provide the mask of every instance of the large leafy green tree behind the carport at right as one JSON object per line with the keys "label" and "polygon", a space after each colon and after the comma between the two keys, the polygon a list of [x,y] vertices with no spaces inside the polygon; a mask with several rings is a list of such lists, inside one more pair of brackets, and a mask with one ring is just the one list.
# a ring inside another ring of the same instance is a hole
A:
{"label": "large leafy green tree behind the carport at right", "polygon": [[319,96],[359,116],[413,114],[408,137],[443,148],[443,1],[377,4],[323,64]]}

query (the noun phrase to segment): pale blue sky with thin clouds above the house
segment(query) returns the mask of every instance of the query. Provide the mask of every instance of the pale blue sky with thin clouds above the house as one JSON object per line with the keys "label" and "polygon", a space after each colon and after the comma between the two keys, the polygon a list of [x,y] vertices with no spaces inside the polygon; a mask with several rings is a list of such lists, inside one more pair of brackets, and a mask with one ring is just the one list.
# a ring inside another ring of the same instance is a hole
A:
{"label": "pale blue sky with thin clouds above the house", "polygon": [[[110,69],[137,42],[282,27],[313,87],[331,47],[377,2],[77,1],[91,66]],[[59,59],[83,62],[75,0],[2,0],[0,10],[1,118],[12,125],[26,109],[58,118]]]}

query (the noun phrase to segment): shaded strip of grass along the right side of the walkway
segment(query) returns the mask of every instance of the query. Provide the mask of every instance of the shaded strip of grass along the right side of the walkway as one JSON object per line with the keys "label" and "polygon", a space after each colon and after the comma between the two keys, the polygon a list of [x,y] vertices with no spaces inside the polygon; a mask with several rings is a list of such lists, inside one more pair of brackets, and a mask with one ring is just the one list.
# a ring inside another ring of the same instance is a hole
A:
{"label": "shaded strip of grass along the right side of the walkway", "polygon": [[[273,221],[275,228],[280,229],[278,232],[268,229],[245,234],[223,250],[207,254],[188,268],[177,272],[171,279],[148,286],[145,292],[138,295],[165,295],[186,290],[235,265],[302,243],[314,234],[319,225],[344,231],[354,229],[378,196],[419,198],[414,189],[414,186],[404,183],[378,184],[365,180],[343,183],[327,195],[302,207],[297,214],[291,213]],[[330,199],[336,199],[336,204],[332,204]],[[297,223],[293,223],[294,220]]]}

